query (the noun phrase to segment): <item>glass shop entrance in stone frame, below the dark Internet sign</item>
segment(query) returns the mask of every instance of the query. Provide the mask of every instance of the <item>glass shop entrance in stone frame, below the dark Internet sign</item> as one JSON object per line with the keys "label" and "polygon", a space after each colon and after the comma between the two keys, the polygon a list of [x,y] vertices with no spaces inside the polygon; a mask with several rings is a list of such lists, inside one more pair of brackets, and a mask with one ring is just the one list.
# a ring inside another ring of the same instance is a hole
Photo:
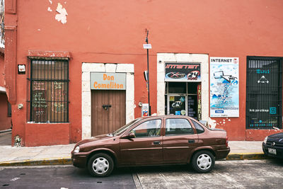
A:
{"label": "glass shop entrance in stone frame, below the dark Internet sign", "polygon": [[200,91],[200,82],[166,82],[166,115],[188,115],[201,120]]}

